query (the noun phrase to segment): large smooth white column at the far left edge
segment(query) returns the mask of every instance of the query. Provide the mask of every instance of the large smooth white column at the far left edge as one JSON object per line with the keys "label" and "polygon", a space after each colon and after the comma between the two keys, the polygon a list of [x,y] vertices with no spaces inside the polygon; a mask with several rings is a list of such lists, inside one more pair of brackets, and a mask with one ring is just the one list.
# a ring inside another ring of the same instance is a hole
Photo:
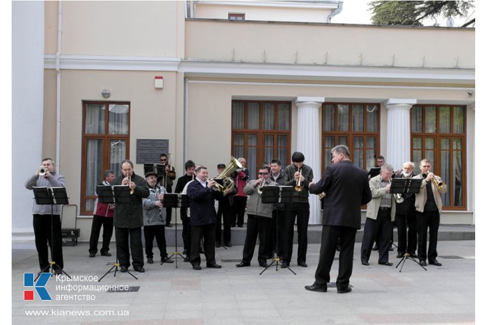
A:
{"label": "large smooth white column at the far left edge", "polygon": [[42,160],[44,1],[12,2],[12,246],[34,248],[33,193]]}

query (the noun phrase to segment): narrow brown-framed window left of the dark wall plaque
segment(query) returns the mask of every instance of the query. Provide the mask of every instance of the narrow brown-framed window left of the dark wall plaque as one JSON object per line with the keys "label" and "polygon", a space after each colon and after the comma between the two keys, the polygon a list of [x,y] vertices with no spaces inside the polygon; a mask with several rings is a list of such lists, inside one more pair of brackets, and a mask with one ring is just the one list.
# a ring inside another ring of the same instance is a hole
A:
{"label": "narrow brown-framed window left of the dark wall plaque", "polygon": [[129,118],[127,102],[83,102],[81,214],[93,214],[104,171],[120,175],[120,163],[129,157]]}

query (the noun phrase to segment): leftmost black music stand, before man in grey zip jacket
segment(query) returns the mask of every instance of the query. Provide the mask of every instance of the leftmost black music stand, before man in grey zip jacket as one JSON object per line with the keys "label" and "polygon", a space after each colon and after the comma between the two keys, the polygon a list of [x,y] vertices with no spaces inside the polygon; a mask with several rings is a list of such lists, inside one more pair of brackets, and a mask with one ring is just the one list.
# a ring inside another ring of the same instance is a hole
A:
{"label": "leftmost black music stand, before man in grey zip jacket", "polygon": [[[65,187],[33,187],[35,203],[37,205],[51,205],[51,259],[53,258],[52,251],[54,250],[54,205],[70,204],[67,198]],[[61,234],[59,234],[61,236]],[[49,265],[42,270],[41,273],[54,273],[54,265],[56,261],[49,262]],[[49,272],[48,270],[51,269]],[[61,269],[61,267],[59,267]],[[61,272],[68,278],[71,278],[63,269]],[[37,280],[40,274],[35,278]]]}

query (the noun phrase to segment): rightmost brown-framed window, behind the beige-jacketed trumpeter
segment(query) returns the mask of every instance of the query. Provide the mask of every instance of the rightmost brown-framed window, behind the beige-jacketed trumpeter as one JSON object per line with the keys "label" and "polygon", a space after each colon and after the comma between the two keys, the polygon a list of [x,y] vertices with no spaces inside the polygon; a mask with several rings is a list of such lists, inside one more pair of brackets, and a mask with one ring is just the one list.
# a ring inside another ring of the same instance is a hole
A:
{"label": "rightmost brown-framed window, behind the beige-jacketed trumpeter", "polygon": [[411,157],[415,173],[420,161],[431,161],[431,171],[447,184],[445,209],[466,209],[465,106],[415,105],[411,109]]}

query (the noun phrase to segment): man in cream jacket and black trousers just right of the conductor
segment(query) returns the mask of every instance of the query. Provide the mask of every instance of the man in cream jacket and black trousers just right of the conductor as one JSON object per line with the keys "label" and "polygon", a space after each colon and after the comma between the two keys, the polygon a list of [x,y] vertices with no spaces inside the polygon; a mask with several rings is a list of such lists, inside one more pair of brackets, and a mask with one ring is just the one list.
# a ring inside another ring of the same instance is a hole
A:
{"label": "man in cream jacket and black trousers just right of the conductor", "polygon": [[367,205],[367,219],[360,248],[362,265],[369,265],[374,239],[378,246],[378,264],[392,265],[389,262],[389,247],[392,221],[396,215],[396,201],[389,191],[393,172],[390,164],[383,164],[381,173],[369,180],[372,200]]}

